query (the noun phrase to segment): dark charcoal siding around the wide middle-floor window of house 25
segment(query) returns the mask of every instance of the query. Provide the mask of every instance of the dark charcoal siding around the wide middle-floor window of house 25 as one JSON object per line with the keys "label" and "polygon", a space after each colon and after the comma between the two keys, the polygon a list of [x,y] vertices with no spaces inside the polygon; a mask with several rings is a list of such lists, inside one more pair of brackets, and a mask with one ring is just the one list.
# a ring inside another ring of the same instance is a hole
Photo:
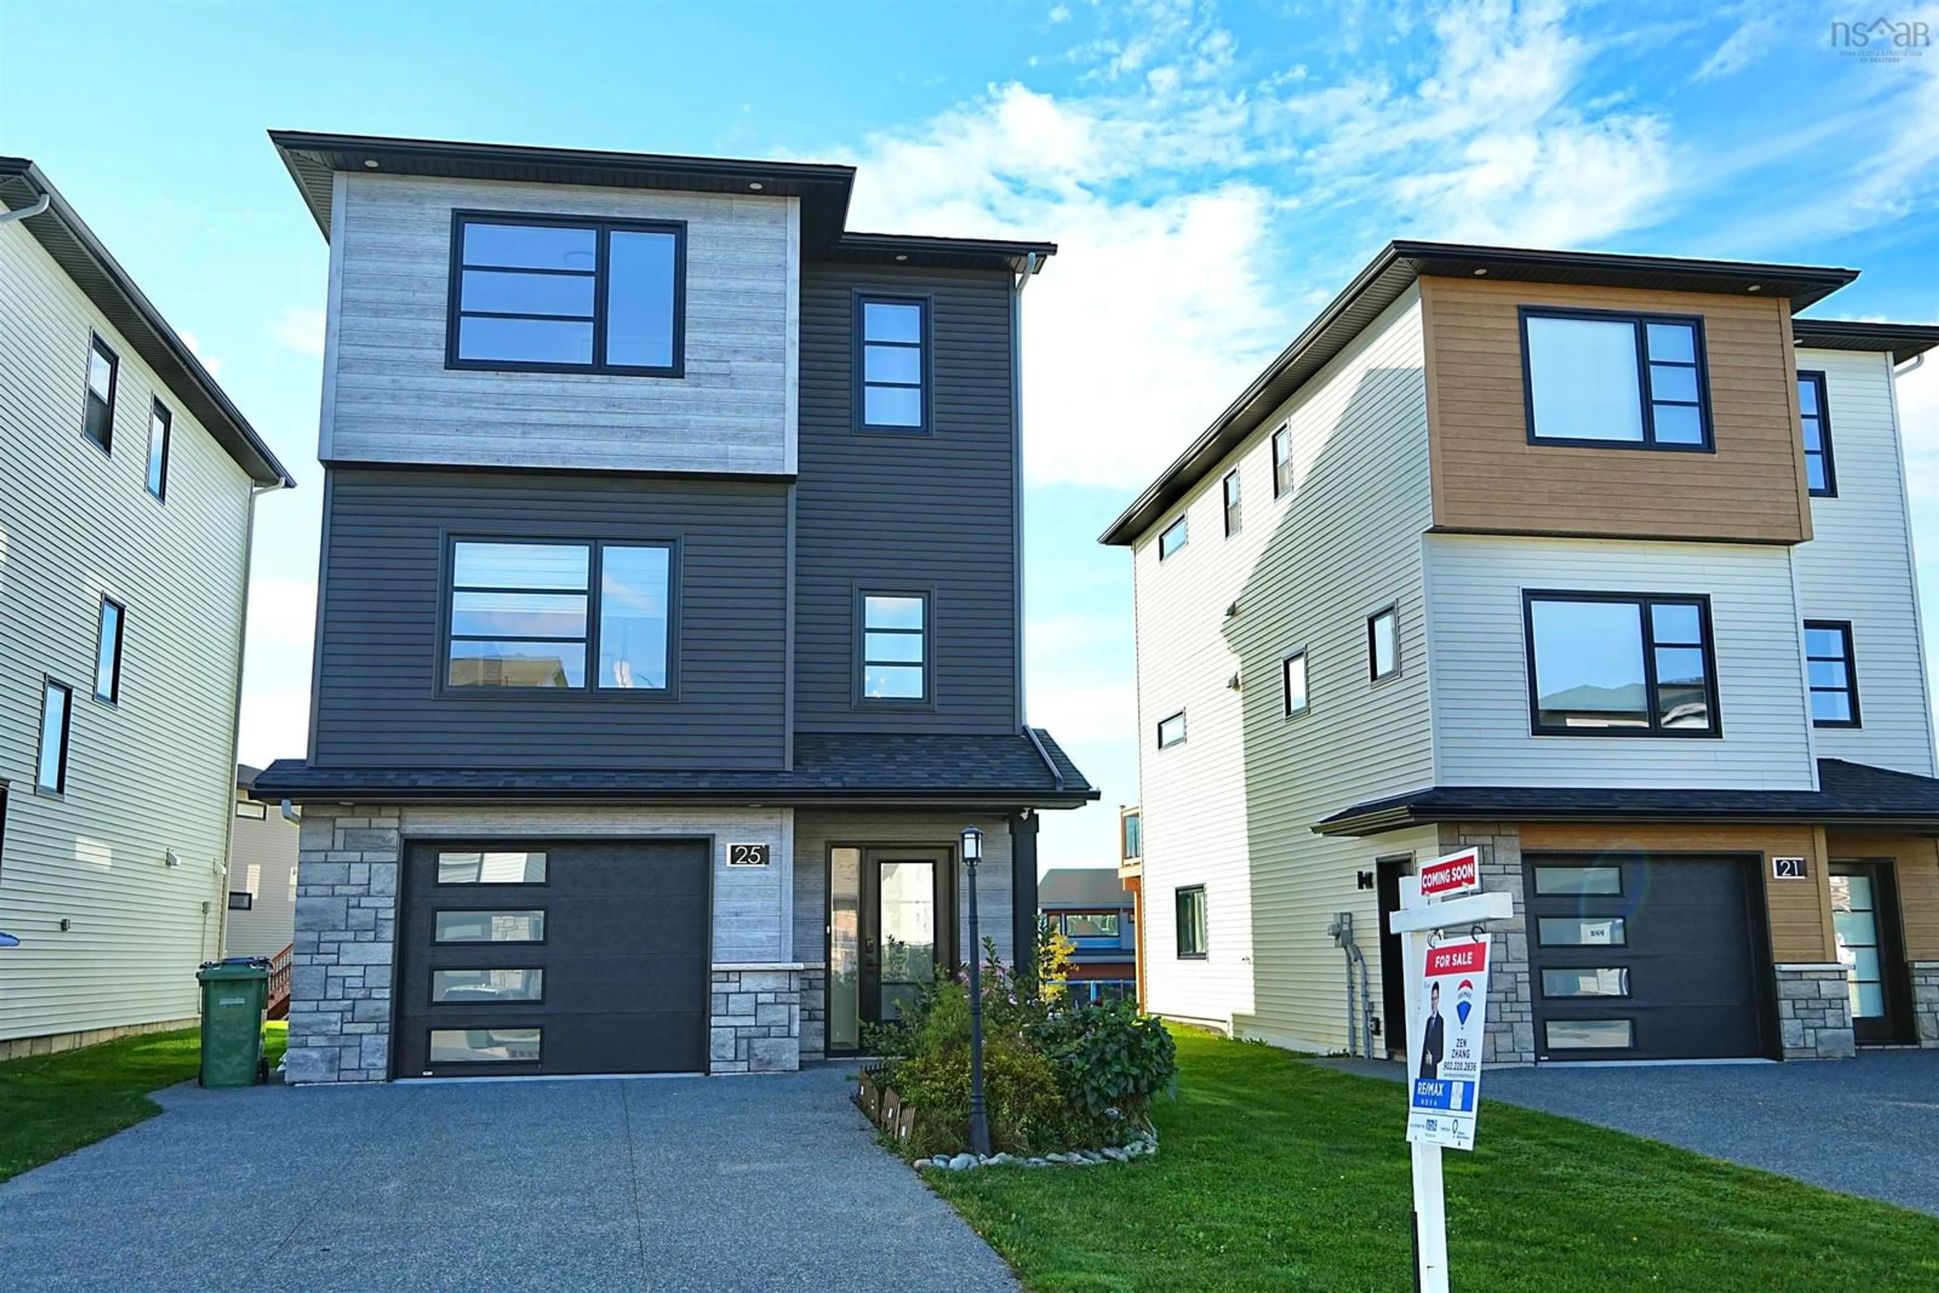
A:
{"label": "dark charcoal siding around the wide middle-floor window of house 25", "polygon": [[[679,698],[436,692],[446,535],[679,541]],[[787,490],[332,473],[312,758],[339,768],[779,768]]]}

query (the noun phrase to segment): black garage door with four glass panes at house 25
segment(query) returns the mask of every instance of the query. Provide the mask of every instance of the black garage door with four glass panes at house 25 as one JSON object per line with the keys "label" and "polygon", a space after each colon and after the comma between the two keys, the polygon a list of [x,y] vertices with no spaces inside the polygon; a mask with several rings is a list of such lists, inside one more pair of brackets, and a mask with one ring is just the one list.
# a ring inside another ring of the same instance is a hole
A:
{"label": "black garage door with four glass panes at house 25", "polygon": [[706,1070],[708,849],[411,845],[396,1074]]}

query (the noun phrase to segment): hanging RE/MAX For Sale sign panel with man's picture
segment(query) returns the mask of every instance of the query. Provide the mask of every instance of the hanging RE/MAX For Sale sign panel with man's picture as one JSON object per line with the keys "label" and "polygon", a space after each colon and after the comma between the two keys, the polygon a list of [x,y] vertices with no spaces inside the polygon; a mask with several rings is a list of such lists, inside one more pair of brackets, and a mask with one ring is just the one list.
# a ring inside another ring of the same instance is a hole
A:
{"label": "hanging RE/MAX For Sale sign panel with man's picture", "polygon": [[1487,1024],[1487,934],[1427,948],[1408,1037],[1408,1140],[1474,1150]]}

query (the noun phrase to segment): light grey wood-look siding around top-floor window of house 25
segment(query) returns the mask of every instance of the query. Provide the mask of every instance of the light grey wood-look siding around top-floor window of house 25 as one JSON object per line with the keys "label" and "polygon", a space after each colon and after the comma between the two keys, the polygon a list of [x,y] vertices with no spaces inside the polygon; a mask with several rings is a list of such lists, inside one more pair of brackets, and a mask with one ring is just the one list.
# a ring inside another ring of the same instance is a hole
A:
{"label": "light grey wood-look siding around top-floor window of house 25", "polygon": [[[684,376],[446,368],[454,209],[684,221]],[[326,457],[785,471],[795,219],[754,194],[345,176]]]}

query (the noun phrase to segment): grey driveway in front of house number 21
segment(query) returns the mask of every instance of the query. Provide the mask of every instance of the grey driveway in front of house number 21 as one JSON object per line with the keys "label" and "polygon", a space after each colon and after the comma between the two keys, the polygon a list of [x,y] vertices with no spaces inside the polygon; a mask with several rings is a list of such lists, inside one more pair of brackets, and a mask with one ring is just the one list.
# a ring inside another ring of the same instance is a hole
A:
{"label": "grey driveway in front of house number 21", "polygon": [[[1400,1064],[1320,1060],[1400,1082]],[[1790,1064],[1495,1068],[1491,1099],[1939,1215],[1939,1051]]]}

